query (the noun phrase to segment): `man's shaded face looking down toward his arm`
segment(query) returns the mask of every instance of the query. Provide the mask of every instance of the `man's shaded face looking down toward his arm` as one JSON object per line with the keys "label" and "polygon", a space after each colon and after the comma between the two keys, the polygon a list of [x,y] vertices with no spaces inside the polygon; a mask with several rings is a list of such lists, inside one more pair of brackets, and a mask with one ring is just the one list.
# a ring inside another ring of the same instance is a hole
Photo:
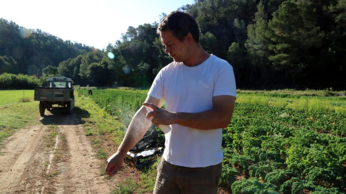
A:
{"label": "man's shaded face looking down toward his arm", "polygon": [[188,59],[187,43],[184,39],[182,42],[173,36],[171,30],[161,31],[161,42],[165,45],[165,53],[169,54],[174,61],[183,62]]}

